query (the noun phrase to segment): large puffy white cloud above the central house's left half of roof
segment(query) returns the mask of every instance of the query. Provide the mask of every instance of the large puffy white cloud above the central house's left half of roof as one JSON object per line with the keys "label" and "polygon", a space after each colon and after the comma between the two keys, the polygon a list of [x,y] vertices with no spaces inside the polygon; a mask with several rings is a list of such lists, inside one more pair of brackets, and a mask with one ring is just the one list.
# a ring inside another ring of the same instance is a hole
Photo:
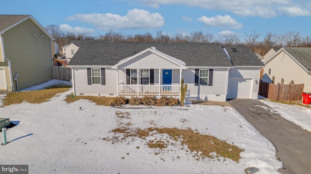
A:
{"label": "large puffy white cloud above the central house's left half of roof", "polygon": [[159,13],[150,13],[142,9],[133,9],[126,16],[117,14],[75,14],[68,20],[79,20],[92,24],[99,30],[109,29],[155,29],[164,25],[164,18]]}

